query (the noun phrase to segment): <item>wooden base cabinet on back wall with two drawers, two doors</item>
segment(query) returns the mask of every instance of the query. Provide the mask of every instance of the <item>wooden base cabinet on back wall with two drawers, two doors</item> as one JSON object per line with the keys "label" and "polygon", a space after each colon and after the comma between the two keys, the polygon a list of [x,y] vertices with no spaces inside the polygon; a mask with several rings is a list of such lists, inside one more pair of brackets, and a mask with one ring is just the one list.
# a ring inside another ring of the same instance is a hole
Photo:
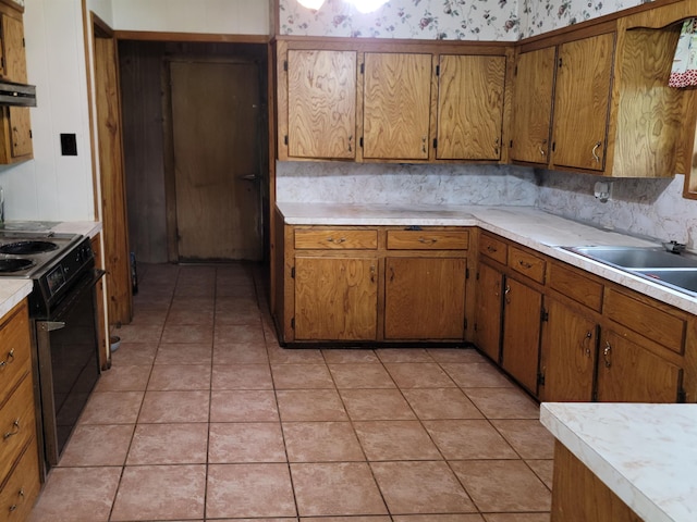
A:
{"label": "wooden base cabinet on back wall with two drawers, two doors", "polygon": [[463,343],[468,243],[462,228],[279,225],[279,339]]}

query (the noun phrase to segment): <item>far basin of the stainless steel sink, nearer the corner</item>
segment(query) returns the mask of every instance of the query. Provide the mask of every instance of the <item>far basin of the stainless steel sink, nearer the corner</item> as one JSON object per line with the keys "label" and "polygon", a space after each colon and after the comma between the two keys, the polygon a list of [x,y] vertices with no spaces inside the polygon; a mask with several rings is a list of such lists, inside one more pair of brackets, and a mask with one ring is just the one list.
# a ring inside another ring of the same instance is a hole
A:
{"label": "far basin of the stainless steel sink, nearer the corner", "polygon": [[622,269],[697,269],[697,256],[671,253],[661,248],[570,247],[568,250]]}

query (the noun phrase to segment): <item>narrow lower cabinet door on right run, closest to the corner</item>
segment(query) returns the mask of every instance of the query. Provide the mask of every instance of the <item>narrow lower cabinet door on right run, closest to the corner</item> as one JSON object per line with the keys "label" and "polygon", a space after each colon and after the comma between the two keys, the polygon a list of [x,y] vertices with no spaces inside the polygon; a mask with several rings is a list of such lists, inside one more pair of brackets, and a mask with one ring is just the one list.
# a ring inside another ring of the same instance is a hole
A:
{"label": "narrow lower cabinet door on right run, closest to the corner", "polygon": [[501,307],[503,274],[488,264],[479,263],[475,309],[475,343],[496,362],[501,351]]}

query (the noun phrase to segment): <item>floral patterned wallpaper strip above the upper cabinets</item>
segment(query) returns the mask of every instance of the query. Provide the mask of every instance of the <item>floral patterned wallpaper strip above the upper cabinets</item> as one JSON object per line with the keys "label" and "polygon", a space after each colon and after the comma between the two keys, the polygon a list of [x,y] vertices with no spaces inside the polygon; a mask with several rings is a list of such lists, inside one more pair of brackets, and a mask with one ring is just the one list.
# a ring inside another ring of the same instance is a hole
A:
{"label": "floral patterned wallpaper strip above the upper cabinets", "polygon": [[344,0],[311,11],[279,0],[281,35],[513,41],[650,0],[390,0],[359,13]]}

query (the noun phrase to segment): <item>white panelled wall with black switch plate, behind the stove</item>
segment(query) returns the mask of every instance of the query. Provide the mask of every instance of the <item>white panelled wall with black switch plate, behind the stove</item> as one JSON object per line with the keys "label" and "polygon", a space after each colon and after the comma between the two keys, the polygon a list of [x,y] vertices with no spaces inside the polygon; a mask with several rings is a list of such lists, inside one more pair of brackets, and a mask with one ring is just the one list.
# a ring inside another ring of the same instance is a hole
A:
{"label": "white panelled wall with black switch plate, behind the stove", "polygon": [[[0,167],[8,220],[94,220],[85,54],[78,0],[29,0],[24,12],[34,160]],[[77,138],[62,157],[60,134]]]}

